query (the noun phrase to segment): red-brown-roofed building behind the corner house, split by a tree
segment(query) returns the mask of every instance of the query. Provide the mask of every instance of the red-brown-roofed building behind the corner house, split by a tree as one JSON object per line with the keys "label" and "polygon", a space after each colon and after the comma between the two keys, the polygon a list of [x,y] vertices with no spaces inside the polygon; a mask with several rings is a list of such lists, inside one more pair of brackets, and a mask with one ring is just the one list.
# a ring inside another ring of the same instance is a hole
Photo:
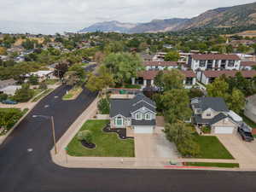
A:
{"label": "red-brown-roofed building behind the corner house, split by a tree", "polygon": [[[154,84],[154,78],[160,71],[157,70],[151,70],[151,71],[141,71],[138,73],[137,79],[132,78],[131,84],[141,84],[143,88],[149,87],[149,86],[155,86]],[[180,71],[185,76],[185,79],[183,81],[184,87],[186,89],[191,88],[193,85],[195,85],[196,82],[196,76],[195,73],[192,71]]]}

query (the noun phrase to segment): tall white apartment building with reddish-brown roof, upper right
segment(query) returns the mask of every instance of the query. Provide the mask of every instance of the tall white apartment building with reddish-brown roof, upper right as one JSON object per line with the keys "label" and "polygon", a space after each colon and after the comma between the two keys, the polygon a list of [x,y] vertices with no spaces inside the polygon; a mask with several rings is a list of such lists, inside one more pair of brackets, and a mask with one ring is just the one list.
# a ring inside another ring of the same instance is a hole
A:
{"label": "tall white apartment building with reddish-brown roof, upper right", "polygon": [[237,55],[206,54],[189,56],[189,67],[195,71],[239,70],[241,59]]}

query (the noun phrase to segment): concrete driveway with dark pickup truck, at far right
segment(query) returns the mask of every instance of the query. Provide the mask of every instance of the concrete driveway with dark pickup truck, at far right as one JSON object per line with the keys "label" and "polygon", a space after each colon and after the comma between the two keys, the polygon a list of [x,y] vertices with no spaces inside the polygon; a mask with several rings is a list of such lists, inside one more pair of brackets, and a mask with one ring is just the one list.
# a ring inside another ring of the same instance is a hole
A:
{"label": "concrete driveway with dark pickup truck, at far right", "polygon": [[233,135],[217,135],[217,137],[225,148],[230,151],[230,154],[238,160],[241,168],[256,168],[256,150],[254,148],[256,143],[242,141],[237,133]]}

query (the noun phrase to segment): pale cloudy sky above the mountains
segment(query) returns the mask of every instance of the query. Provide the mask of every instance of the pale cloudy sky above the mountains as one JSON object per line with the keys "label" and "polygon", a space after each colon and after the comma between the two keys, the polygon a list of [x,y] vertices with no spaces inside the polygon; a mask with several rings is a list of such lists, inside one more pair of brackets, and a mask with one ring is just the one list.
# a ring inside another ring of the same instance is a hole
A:
{"label": "pale cloudy sky above the mountains", "polygon": [[0,0],[0,32],[77,32],[96,22],[191,18],[255,0]]}

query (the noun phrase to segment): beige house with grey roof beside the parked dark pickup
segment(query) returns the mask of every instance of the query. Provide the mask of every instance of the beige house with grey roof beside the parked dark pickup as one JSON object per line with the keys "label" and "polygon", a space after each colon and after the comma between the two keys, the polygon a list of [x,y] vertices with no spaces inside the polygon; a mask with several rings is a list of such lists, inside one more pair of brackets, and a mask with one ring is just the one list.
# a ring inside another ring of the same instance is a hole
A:
{"label": "beige house with grey roof beside the parked dark pickup", "polygon": [[221,97],[197,97],[191,100],[193,120],[198,127],[211,127],[212,134],[232,134],[237,124],[230,118],[229,109]]}

